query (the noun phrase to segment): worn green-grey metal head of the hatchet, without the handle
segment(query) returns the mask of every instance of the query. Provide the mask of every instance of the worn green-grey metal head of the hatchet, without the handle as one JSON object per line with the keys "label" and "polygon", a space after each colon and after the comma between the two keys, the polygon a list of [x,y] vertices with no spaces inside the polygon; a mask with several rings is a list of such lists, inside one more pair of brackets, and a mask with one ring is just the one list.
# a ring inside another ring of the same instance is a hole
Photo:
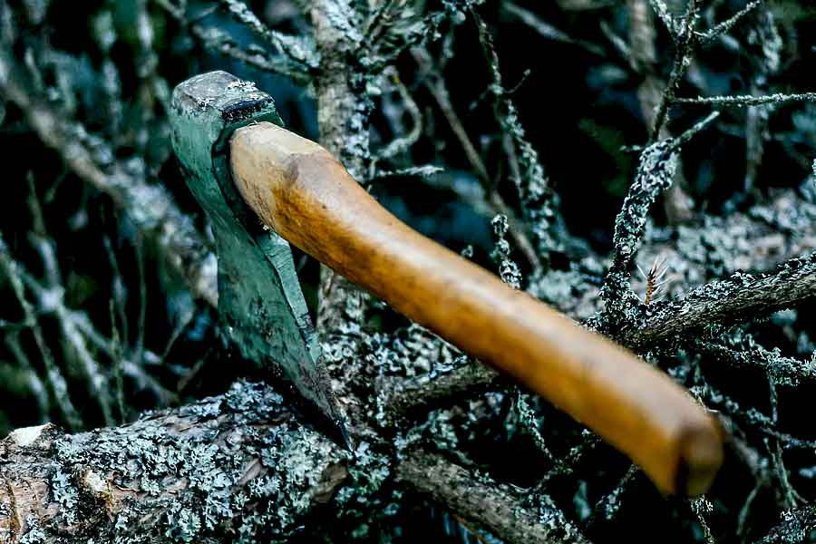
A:
{"label": "worn green-grey metal head of the hatchet, without the handle", "polygon": [[275,102],[226,72],[180,83],[170,108],[172,144],[187,186],[209,217],[219,259],[219,315],[241,355],[285,376],[324,413],[346,445],[345,418],[297,281],[289,244],[264,228],[238,194],[229,139],[257,121],[283,126]]}

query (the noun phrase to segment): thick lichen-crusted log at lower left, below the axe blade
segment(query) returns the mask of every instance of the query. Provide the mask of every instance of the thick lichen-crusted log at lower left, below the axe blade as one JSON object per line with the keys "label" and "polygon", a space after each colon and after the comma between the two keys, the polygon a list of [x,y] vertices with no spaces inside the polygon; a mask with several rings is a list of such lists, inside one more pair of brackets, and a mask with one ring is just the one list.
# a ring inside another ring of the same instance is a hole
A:
{"label": "thick lichen-crusted log at lower left, below the axe blade", "polygon": [[118,428],[18,429],[0,443],[0,541],[285,541],[345,458],[263,384]]}

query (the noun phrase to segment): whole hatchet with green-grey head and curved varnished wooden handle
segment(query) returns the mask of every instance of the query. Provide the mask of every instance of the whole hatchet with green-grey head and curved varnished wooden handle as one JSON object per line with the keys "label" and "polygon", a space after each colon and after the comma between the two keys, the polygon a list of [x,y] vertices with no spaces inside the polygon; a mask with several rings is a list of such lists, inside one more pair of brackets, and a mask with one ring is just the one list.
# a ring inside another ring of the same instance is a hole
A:
{"label": "whole hatchet with green-grey head and curved varnished wooden handle", "polygon": [[[225,72],[173,92],[172,141],[219,257],[219,313],[242,354],[343,428],[288,243],[510,374],[625,452],[667,493],[706,491],[723,434],[668,376],[404,225],[272,98]],[[288,242],[288,243],[287,243]]]}

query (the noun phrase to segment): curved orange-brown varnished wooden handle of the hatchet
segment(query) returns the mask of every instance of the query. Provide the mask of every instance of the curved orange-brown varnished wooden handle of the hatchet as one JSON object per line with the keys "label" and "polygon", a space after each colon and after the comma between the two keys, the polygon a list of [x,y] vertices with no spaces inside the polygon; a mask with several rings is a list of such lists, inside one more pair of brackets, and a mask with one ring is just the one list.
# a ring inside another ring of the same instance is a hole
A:
{"label": "curved orange-brown varnished wooden handle of the hatchet", "polygon": [[708,489],[720,428],[668,376],[407,227],[315,142],[262,122],[230,153],[241,195],[281,237],[586,424],[661,491]]}

